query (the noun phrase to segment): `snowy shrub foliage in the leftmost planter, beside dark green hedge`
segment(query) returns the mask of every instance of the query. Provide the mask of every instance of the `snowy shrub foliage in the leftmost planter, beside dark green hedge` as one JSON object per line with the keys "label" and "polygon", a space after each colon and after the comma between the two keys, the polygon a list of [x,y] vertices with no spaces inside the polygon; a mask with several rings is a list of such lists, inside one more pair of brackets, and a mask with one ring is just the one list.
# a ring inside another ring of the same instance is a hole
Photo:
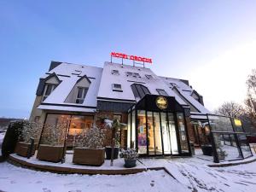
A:
{"label": "snowy shrub foliage in the leftmost planter, beside dark green hedge", "polygon": [[30,138],[39,139],[43,125],[37,122],[24,121],[20,128],[19,141],[30,143]]}

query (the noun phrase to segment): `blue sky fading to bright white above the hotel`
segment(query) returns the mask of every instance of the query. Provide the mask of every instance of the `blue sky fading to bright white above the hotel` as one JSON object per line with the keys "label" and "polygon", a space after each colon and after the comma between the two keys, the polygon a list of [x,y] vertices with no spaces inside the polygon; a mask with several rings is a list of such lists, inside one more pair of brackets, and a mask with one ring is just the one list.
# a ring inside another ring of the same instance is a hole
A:
{"label": "blue sky fading to bright white above the hotel", "polygon": [[242,102],[255,40],[256,1],[0,0],[0,117],[29,116],[50,61],[102,67],[111,51],[189,79],[210,110]]}

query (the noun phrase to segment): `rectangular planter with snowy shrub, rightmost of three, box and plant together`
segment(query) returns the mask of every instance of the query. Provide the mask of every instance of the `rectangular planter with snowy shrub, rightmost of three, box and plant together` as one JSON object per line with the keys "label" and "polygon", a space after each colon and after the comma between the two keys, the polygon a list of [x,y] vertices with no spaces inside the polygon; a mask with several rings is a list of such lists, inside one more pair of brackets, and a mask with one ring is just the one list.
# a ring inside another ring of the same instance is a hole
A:
{"label": "rectangular planter with snowy shrub, rightmost of three, box and plant together", "polygon": [[105,159],[105,148],[102,147],[104,138],[104,130],[97,126],[84,130],[73,148],[73,163],[102,166]]}

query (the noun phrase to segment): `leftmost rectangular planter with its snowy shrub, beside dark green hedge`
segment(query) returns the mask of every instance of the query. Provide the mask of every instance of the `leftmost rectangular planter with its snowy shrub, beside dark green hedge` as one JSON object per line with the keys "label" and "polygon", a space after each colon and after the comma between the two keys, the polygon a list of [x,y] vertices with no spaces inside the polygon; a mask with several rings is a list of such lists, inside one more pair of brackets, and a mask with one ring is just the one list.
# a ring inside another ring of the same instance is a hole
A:
{"label": "leftmost rectangular planter with its snowy shrub, beside dark green hedge", "polygon": [[[24,157],[34,155],[38,146],[38,138],[40,136],[41,129],[41,124],[25,121],[23,123],[23,127],[20,127],[20,135],[18,136],[19,142],[16,143],[15,153]],[[30,151],[29,149],[31,147],[31,144],[32,150]]]}

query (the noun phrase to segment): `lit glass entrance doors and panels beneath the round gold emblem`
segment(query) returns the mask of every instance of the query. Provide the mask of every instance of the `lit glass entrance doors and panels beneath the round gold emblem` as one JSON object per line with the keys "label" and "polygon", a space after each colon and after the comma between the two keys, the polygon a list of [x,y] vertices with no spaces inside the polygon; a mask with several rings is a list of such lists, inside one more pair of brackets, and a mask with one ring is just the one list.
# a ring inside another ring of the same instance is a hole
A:
{"label": "lit glass entrance doors and panels beneath the round gold emblem", "polygon": [[141,155],[189,155],[186,130],[183,113],[133,110],[128,114],[127,140]]}

